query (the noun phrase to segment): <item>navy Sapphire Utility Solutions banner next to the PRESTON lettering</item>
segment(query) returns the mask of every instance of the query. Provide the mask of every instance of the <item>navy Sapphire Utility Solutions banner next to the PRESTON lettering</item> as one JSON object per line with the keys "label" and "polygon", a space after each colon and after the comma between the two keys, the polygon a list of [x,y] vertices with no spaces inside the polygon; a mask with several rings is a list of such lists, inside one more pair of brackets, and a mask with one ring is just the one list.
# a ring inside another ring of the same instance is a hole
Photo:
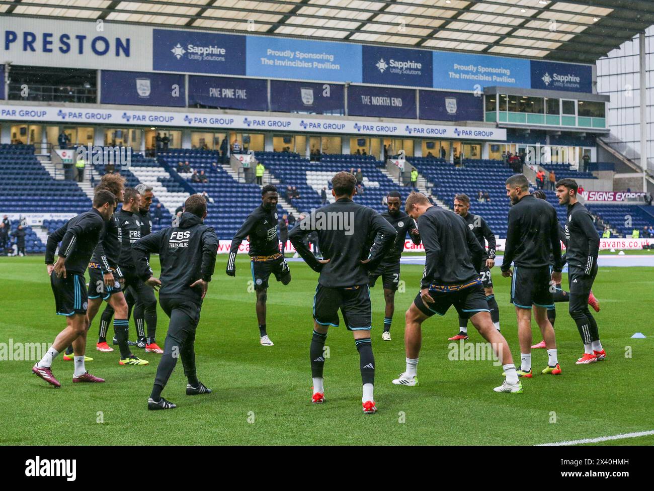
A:
{"label": "navy Sapphire Utility Solutions banner next to the PRESTON lettering", "polygon": [[152,69],[245,75],[245,36],[152,30]]}

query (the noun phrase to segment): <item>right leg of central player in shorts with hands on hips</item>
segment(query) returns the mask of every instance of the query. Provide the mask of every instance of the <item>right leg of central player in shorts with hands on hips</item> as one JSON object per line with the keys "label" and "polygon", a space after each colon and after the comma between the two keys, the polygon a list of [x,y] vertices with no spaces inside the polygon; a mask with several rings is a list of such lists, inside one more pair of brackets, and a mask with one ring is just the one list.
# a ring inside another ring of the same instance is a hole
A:
{"label": "right leg of central player in shorts with hands on hips", "polygon": [[359,369],[363,383],[361,403],[366,414],[377,411],[375,405],[375,356],[372,352],[370,330],[372,328],[372,306],[368,285],[341,289],[343,322],[354,334],[354,344],[359,352]]}

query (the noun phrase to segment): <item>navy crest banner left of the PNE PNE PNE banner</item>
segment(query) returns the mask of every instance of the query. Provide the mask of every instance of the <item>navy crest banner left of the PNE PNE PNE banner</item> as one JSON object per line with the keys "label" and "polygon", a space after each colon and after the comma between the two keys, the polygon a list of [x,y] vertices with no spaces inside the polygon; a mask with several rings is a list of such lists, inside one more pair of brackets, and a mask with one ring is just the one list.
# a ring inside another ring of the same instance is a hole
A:
{"label": "navy crest banner left of the PNE PNE PNE banner", "polygon": [[184,75],[103,70],[100,80],[101,104],[186,106]]}

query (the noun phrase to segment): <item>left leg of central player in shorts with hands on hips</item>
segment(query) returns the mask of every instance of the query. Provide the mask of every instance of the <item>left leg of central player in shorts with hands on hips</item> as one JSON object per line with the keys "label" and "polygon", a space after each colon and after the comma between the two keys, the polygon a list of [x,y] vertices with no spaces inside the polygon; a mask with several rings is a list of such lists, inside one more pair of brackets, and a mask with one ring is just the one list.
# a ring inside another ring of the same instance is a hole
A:
{"label": "left leg of central player in shorts with hands on hips", "polygon": [[309,346],[311,379],[313,380],[311,402],[313,404],[321,404],[325,400],[322,377],[325,364],[324,346],[329,327],[339,325],[338,309],[341,307],[341,301],[339,289],[327,288],[319,284],[316,287],[316,293],[313,296],[313,335]]}

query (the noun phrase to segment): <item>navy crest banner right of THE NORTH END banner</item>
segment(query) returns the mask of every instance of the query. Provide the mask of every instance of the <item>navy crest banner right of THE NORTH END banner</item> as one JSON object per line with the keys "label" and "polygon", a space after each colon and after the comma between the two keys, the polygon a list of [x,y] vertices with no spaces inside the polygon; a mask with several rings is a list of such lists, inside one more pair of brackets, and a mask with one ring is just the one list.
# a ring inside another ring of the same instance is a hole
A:
{"label": "navy crest banner right of THE NORTH END banner", "polygon": [[435,121],[483,121],[483,97],[464,92],[421,90],[419,118]]}

